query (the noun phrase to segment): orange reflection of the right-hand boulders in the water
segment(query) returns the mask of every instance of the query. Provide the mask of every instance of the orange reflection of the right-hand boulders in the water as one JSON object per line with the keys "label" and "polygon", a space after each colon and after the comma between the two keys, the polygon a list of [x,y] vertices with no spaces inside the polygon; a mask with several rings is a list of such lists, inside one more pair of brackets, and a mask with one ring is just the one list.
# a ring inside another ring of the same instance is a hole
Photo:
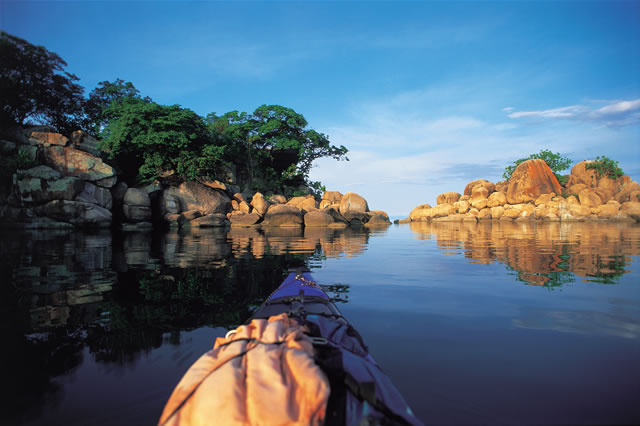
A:
{"label": "orange reflection of the right-hand boulders in the water", "polygon": [[628,223],[412,222],[419,239],[435,239],[446,254],[472,263],[499,262],[530,285],[575,281],[615,284],[640,255],[640,226]]}

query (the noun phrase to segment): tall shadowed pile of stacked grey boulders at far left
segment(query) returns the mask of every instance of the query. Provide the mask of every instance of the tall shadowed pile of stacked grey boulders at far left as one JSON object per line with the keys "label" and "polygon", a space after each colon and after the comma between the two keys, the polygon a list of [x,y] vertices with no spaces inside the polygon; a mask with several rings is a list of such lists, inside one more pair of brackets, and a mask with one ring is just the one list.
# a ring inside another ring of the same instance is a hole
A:
{"label": "tall shadowed pile of stacked grey boulders at far left", "polygon": [[114,169],[98,156],[97,141],[82,131],[71,139],[48,131],[0,140],[3,156],[26,155],[36,166],[17,170],[0,201],[0,222],[52,228],[110,226]]}

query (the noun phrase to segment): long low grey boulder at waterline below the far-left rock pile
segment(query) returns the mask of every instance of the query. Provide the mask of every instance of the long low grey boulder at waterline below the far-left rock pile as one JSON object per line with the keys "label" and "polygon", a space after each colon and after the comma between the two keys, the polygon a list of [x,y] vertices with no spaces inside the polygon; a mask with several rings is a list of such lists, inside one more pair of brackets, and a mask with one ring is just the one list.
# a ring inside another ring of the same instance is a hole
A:
{"label": "long low grey boulder at waterline below the far-left rock pile", "polygon": [[46,216],[78,227],[108,227],[111,225],[111,212],[93,203],[54,200],[38,206],[34,210],[39,216]]}

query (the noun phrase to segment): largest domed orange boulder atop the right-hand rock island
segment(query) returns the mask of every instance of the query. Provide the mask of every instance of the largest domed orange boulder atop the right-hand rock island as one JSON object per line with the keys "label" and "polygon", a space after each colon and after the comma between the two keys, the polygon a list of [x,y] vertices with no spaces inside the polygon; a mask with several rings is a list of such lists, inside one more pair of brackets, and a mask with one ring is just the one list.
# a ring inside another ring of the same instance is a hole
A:
{"label": "largest domed orange boulder atop the right-hand rock island", "polygon": [[560,194],[562,187],[544,160],[533,159],[521,163],[511,175],[507,185],[510,204],[534,201],[541,194]]}

